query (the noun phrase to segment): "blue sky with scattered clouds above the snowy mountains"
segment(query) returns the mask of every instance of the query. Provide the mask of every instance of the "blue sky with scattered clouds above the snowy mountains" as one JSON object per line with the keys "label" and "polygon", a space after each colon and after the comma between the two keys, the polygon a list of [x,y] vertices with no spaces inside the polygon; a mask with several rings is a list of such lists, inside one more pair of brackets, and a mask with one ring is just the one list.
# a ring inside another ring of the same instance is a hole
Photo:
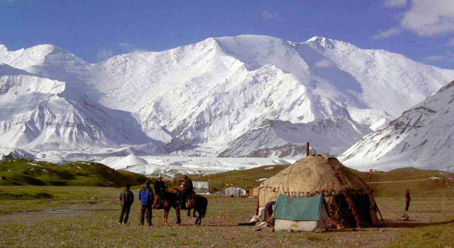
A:
{"label": "blue sky with scattered clouds above the snowy mountains", "polygon": [[91,63],[241,34],[319,35],[454,69],[452,0],[0,0],[0,44],[54,44]]}

